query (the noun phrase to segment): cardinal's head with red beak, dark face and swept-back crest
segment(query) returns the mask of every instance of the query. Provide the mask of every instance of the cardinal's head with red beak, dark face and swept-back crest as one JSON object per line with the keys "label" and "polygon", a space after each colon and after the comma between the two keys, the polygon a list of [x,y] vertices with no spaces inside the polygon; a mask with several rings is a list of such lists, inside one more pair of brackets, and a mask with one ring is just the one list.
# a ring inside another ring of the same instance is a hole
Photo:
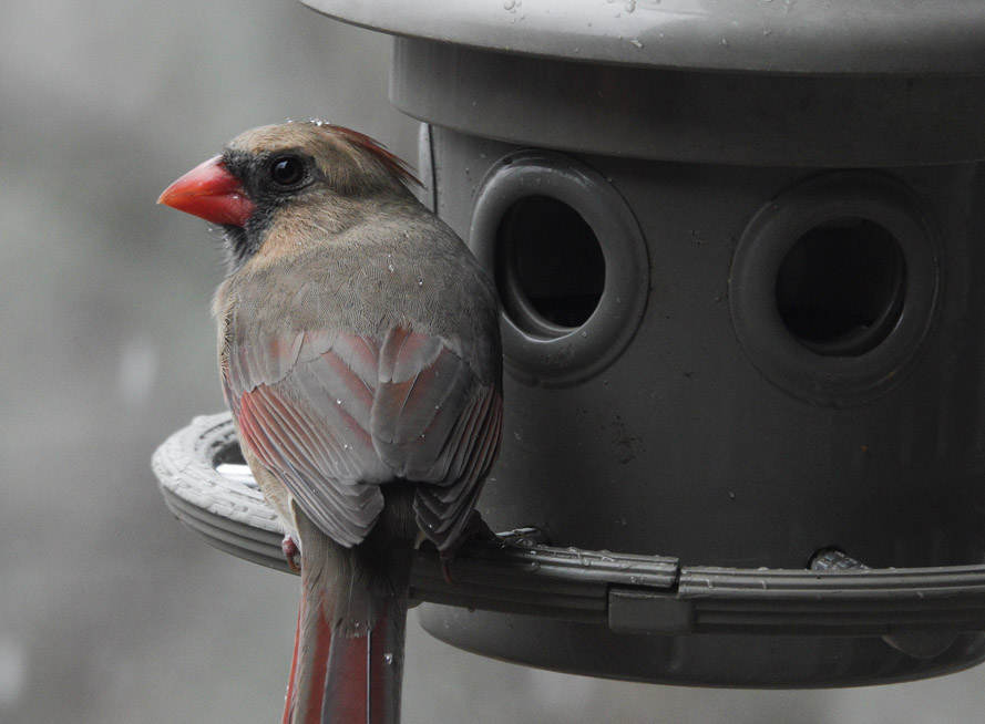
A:
{"label": "cardinal's head with red beak, dark face and swept-back crest", "polygon": [[157,199],[223,228],[234,269],[256,255],[275,224],[343,227],[376,196],[419,183],[369,136],[318,121],[243,133]]}

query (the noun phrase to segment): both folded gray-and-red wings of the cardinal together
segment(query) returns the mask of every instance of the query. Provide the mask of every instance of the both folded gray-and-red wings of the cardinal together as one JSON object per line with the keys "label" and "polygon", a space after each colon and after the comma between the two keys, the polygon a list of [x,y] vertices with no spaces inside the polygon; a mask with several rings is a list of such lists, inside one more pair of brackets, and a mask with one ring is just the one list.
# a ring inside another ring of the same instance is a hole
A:
{"label": "both folded gray-and-red wings of the cardinal together", "polygon": [[425,535],[458,536],[495,459],[502,402],[447,340],[397,328],[230,341],[224,370],[244,443],[328,536],[361,541],[394,477],[419,483]]}

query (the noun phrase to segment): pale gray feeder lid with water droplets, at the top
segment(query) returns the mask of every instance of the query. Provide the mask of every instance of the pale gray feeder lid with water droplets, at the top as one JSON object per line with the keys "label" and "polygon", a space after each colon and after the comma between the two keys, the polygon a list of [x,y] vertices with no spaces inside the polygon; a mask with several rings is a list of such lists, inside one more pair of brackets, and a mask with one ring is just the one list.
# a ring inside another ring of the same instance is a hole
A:
{"label": "pale gray feeder lid with water droplets, at the top", "polygon": [[506,53],[677,70],[981,74],[981,0],[301,0],[337,20]]}

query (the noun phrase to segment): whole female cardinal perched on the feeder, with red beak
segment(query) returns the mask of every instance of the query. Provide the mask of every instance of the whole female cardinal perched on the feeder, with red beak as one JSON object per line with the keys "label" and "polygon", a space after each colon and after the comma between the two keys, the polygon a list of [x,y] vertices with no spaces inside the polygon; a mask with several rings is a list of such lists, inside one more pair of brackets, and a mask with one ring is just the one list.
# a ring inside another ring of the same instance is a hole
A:
{"label": "whole female cardinal perched on the feeder, with red beak", "polygon": [[158,199],[218,225],[219,370],[300,549],[284,722],[399,721],[411,559],[450,551],[496,457],[496,294],[407,166],[322,124],[248,131]]}

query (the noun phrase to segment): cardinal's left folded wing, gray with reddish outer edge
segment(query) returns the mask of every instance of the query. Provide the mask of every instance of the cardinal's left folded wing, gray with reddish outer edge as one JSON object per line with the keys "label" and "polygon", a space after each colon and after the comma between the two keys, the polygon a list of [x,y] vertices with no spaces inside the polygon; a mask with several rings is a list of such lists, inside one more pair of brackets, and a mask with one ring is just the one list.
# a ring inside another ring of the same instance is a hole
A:
{"label": "cardinal's left folded wing, gray with reddish outer edge", "polygon": [[366,537],[383,507],[378,484],[392,477],[370,434],[379,347],[319,330],[226,348],[226,394],[243,442],[345,546]]}

